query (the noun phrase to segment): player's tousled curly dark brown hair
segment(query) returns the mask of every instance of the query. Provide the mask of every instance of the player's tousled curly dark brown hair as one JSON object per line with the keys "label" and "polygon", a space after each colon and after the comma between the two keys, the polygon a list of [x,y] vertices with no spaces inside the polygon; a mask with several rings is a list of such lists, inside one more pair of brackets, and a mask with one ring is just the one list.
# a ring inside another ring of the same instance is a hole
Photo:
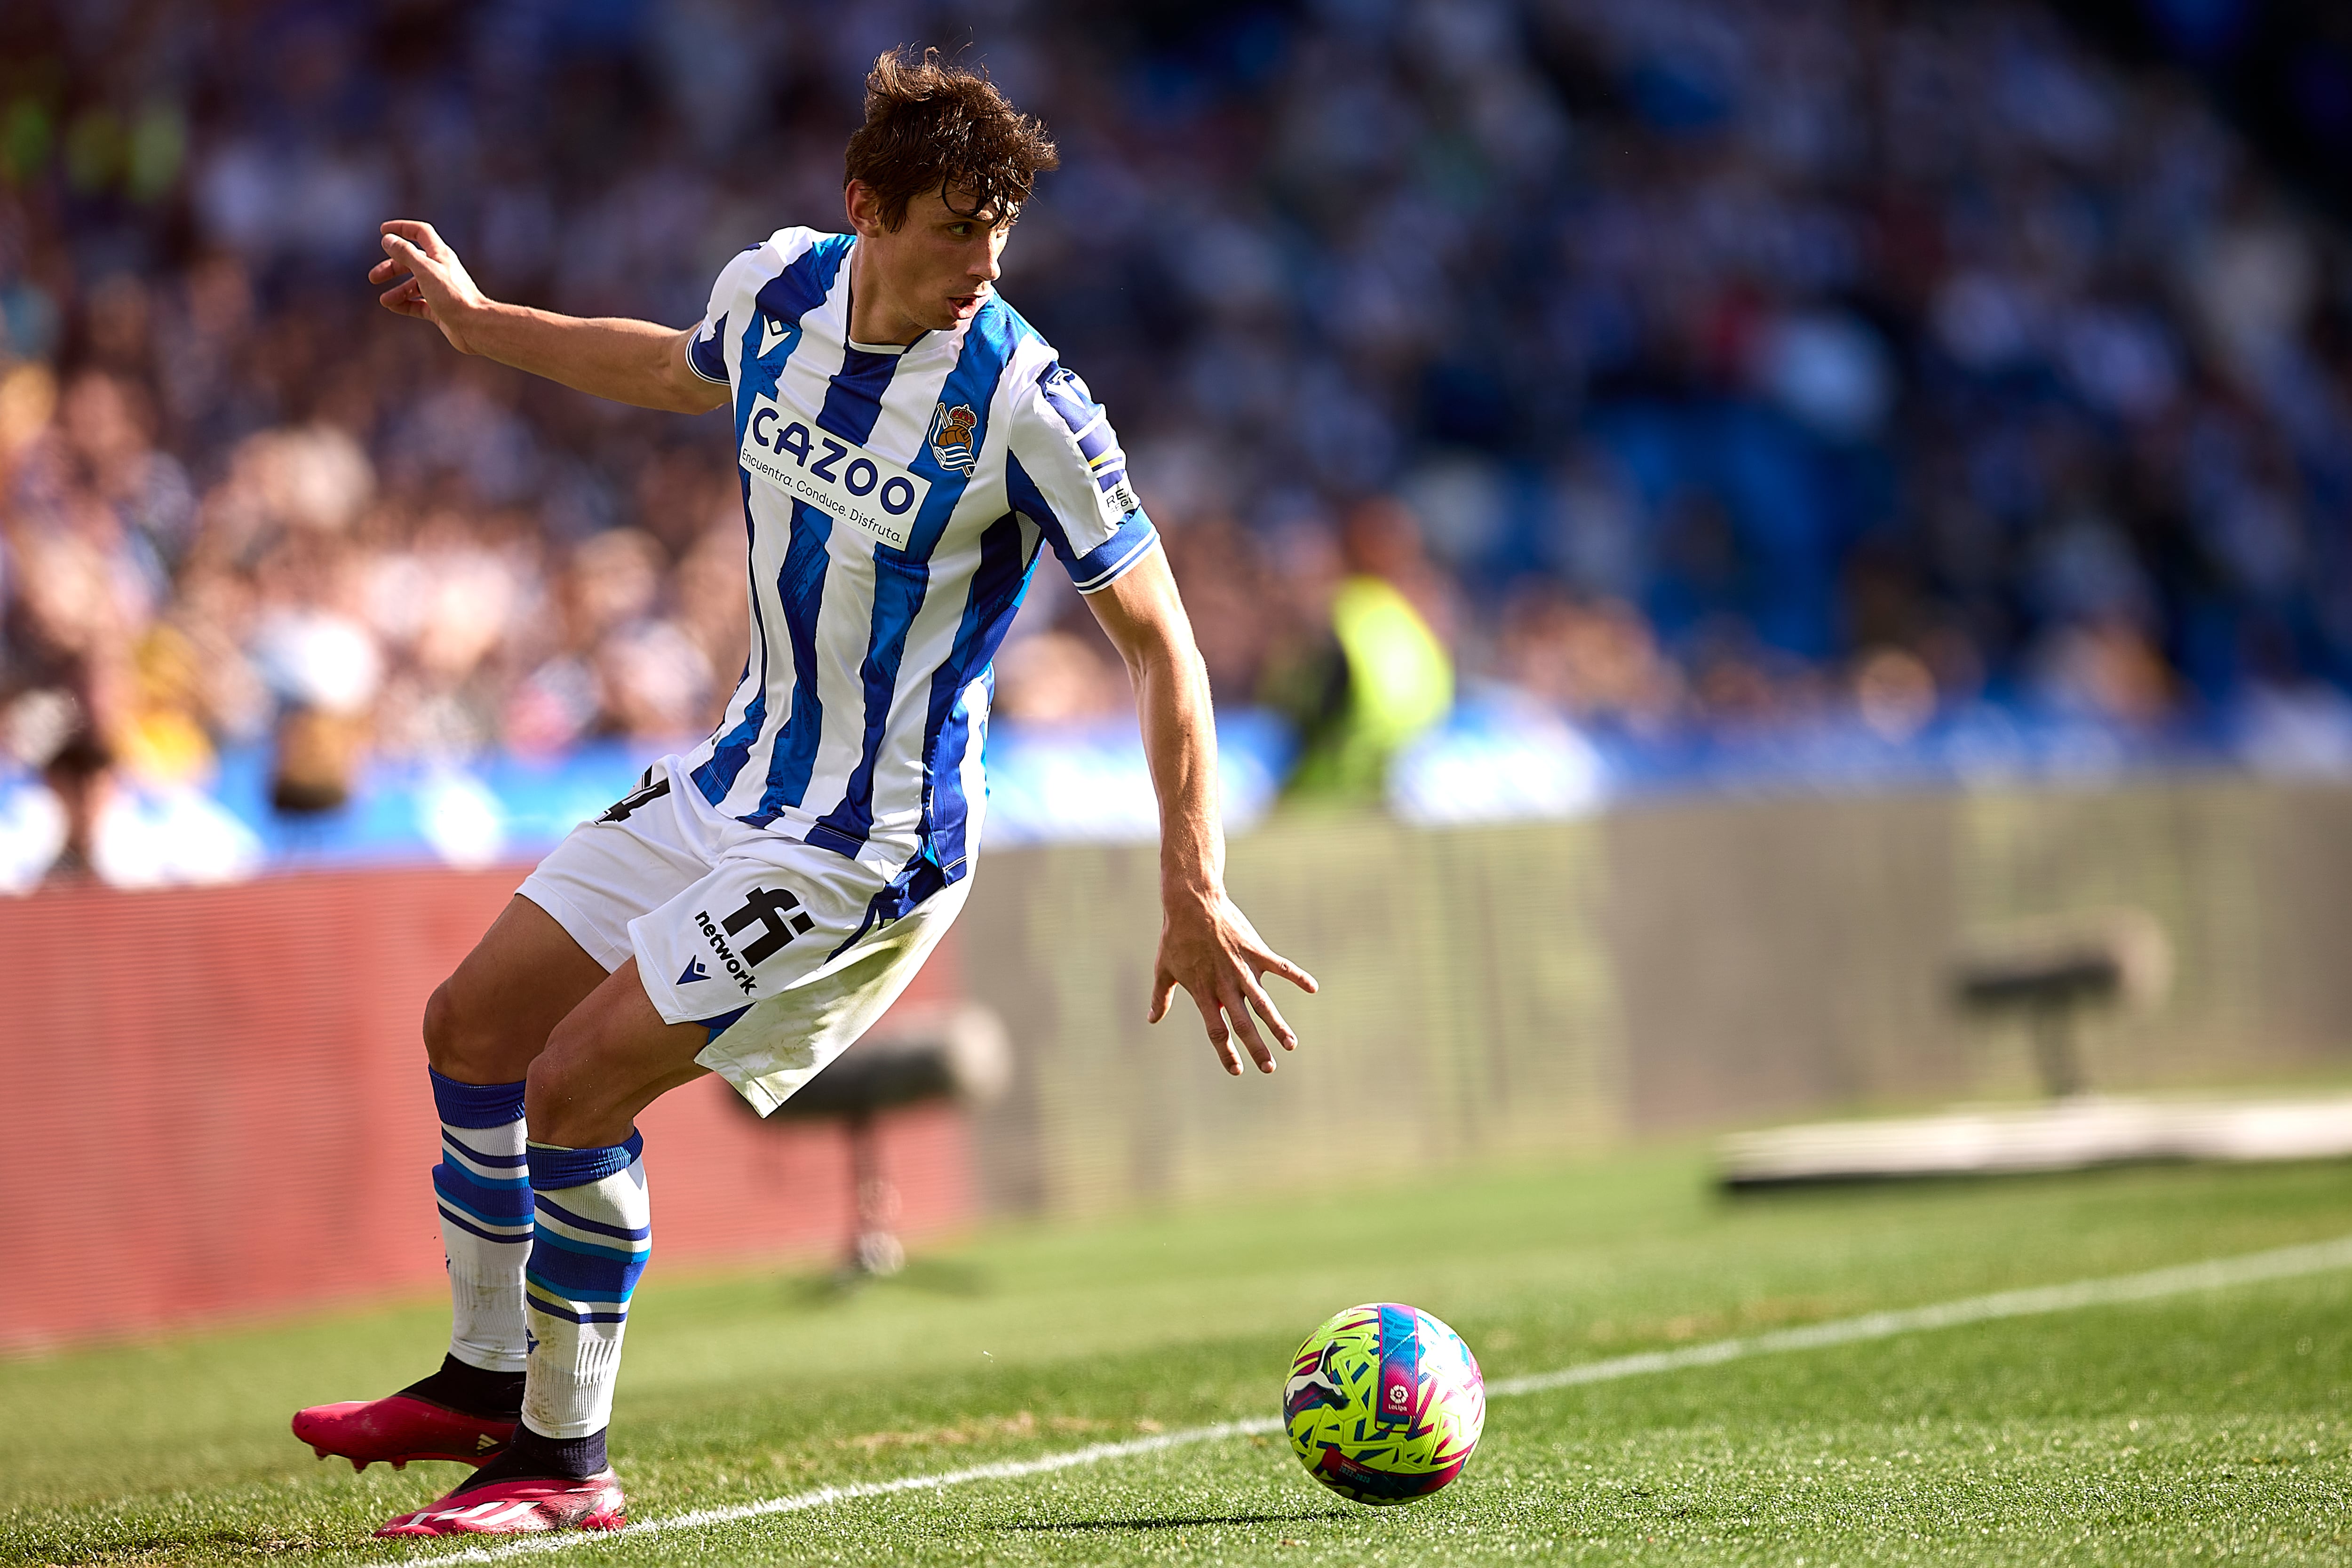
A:
{"label": "player's tousled curly dark brown hair", "polygon": [[[906,205],[941,190],[955,212],[995,207],[1011,219],[1042,169],[1061,167],[1044,125],[1014,108],[985,71],[938,49],[889,49],[866,73],[866,125],[849,139],[847,172],[882,197],[882,221],[906,223]],[[969,200],[969,207],[957,207]]]}

